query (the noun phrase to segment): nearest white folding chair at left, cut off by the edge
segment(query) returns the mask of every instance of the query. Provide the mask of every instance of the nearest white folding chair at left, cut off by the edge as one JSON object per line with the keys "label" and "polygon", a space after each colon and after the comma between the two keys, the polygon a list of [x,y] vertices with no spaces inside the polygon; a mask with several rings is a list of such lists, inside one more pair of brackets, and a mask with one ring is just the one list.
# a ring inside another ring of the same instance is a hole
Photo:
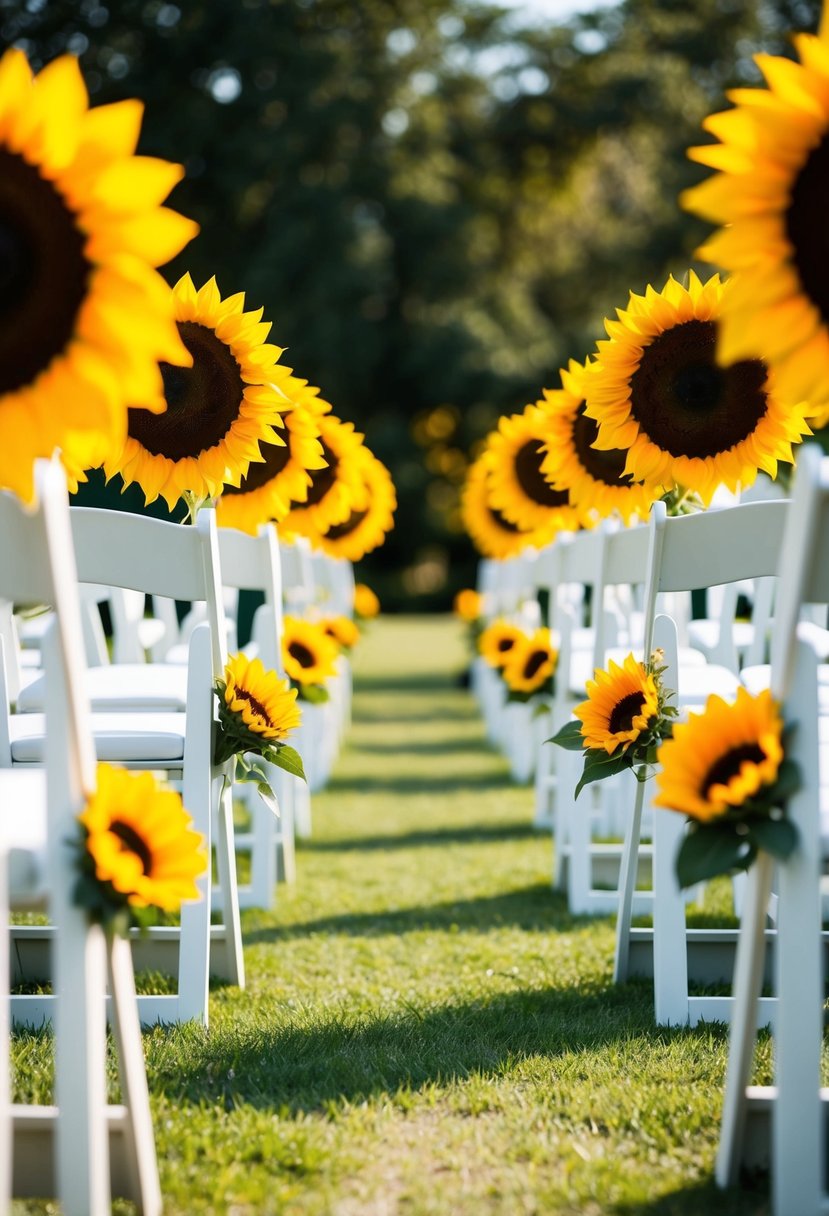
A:
{"label": "nearest white folding chair at left, cut off by the edge", "polygon": [[[0,941],[9,975],[10,902],[46,900],[56,925],[55,1104],[4,1107],[0,1204],[57,1195],[64,1216],[106,1216],[109,1194],[139,1212],[162,1209],[129,944],[107,942],[72,901],[75,816],[94,788],[95,755],[83,687],[83,641],[68,500],[57,465],[35,467],[36,511],[0,495],[0,595],[56,608],[44,638],[49,680],[46,770],[0,770]],[[123,1103],[106,1102],[106,980],[112,993]],[[7,979],[4,979],[4,985]],[[9,1080],[9,1013],[2,1079]],[[6,1088],[7,1100],[7,1088]],[[11,1145],[9,1132],[11,1132]],[[10,1153],[11,1148],[11,1153]]]}

